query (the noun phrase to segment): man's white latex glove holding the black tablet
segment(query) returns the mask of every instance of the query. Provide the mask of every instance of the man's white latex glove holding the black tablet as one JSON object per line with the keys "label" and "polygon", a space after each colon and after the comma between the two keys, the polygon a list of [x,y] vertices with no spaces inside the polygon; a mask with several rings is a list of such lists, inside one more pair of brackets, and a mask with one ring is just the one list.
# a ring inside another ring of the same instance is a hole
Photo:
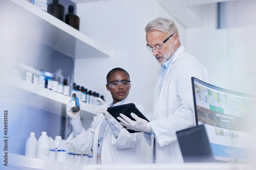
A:
{"label": "man's white latex glove holding the black tablet", "polygon": [[131,120],[129,117],[125,116],[122,113],[120,114],[120,116],[121,117],[117,117],[117,119],[121,121],[119,122],[120,125],[126,126],[126,129],[131,129],[139,132],[152,133],[150,123],[145,119],[138,117],[136,114],[131,113],[131,116],[133,117],[133,119],[135,119],[135,121]]}

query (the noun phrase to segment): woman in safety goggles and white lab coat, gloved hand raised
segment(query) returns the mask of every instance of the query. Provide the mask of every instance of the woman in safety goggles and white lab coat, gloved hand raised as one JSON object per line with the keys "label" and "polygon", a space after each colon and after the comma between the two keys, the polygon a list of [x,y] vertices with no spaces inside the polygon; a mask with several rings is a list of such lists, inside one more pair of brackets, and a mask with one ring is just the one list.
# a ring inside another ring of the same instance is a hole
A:
{"label": "woman in safety goggles and white lab coat, gloved hand raised", "polygon": [[[106,88],[110,91],[113,102],[107,104],[101,98],[98,98],[103,104],[96,107],[97,116],[93,117],[91,127],[85,130],[79,119],[79,112],[71,111],[71,104],[67,104],[67,114],[72,118],[71,124],[74,132],[70,134],[68,143],[81,151],[93,151],[93,164],[116,163],[141,163],[142,151],[140,141],[143,138],[142,133],[129,133],[126,129],[121,129],[121,125],[112,117],[106,109],[112,106],[131,103],[127,98],[130,85],[129,74],[121,69],[115,68],[107,75]],[[136,104],[136,107],[146,115],[146,109]]]}

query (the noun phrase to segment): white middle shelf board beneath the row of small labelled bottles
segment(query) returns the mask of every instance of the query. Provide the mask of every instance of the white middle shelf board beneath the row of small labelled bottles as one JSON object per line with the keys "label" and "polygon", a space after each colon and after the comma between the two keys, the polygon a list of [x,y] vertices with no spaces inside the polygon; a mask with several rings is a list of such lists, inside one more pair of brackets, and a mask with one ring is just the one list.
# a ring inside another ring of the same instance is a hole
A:
{"label": "white middle shelf board beneath the row of small labelled bottles", "polygon": [[[68,104],[68,100],[70,99],[68,96],[49,90],[47,88],[40,87],[30,82],[23,81],[11,75],[2,74],[1,77],[4,83],[12,85],[11,87],[13,88],[17,87],[22,89],[18,92],[15,92],[16,94],[20,94],[18,98],[13,97],[15,102],[29,105],[34,108],[38,107],[40,102],[43,102],[45,103],[46,107],[42,107],[42,110],[60,115],[61,103]],[[82,101],[80,103],[81,119],[92,119],[97,114],[94,112],[94,106]]]}

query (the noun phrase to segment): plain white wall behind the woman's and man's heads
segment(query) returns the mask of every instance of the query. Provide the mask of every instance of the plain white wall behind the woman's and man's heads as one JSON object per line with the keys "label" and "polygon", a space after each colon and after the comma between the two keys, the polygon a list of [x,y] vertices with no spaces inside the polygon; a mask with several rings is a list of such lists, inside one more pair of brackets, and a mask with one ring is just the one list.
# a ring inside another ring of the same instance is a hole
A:
{"label": "plain white wall behind the woman's and man's heads", "polygon": [[[144,28],[148,22],[157,17],[173,18],[154,0],[142,6],[140,3],[143,1],[103,1],[90,16],[87,11],[90,11],[91,7],[95,5],[94,3],[77,4],[80,31],[100,43],[106,36],[114,33],[114,36],[105,45],[114,53],[111,58],[76,59],[75,67],[81,61],[86,61],[87,64],[76,73],[74,82],[88,90],[100,90],[100,94],[104,95],[106,101],[111,102],[113,101],[111,94],[105,88],[106,75],[113,68],[123,68],[130,74],[132,84],[129,99],[142,104],[150,112],[155,88],[155,83],[151,83],[151,80],[154,79],[161,67],[146,47],[140,52],[140,47],[146,43]],[[123,20],[128,22],[121,30],[115,32],[113,29]],[[185,42],[186,30],[178,22],[176,24],[179,29],[180,41]],[[132,58],[131,55],[135,56],[135,51],[138,51],[138,55]],[[143,91],[143,88],[148,87],[146,84],[151,86]],[[103,89],[101,89],[102,86]],[[88,121],[83,122],[84,126],[87,126]],[[142,142],[142,150],[144,162],[150,163],[151,148],[145,140]]]}

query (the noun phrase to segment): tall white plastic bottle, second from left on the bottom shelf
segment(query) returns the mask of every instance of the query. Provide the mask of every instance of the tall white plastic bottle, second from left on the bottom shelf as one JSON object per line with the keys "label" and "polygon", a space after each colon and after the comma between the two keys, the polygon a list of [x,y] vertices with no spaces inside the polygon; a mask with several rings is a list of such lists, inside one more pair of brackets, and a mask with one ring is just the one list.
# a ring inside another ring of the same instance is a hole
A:
{"label": "tall white plastic bottle, second from left on the bottom shelf", "polygon": [[49,160],[50,141],[46,132],[42,132],[37,142],[37,158]]}

